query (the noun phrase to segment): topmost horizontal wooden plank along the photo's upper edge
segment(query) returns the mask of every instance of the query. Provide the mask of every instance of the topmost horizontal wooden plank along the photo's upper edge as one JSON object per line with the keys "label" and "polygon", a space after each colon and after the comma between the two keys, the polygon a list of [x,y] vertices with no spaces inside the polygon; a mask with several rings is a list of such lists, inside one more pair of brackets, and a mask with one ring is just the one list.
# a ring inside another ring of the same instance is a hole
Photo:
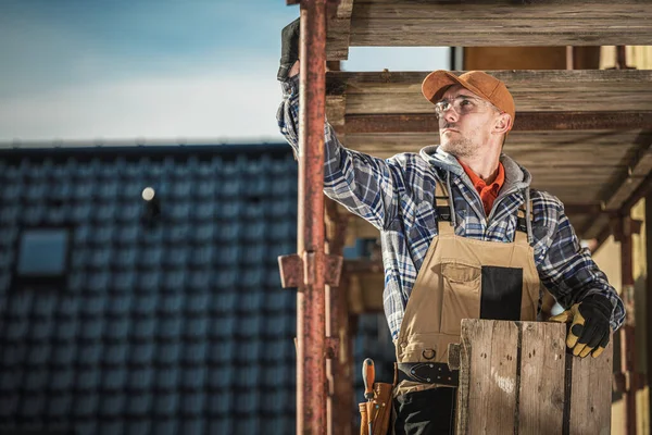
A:
{"label": "topmost horizontal wooden plank along the photo's upper edge", "polygon": [[351,46],[639,46],[652,44],[650,20],[636,0],[359,0]]}

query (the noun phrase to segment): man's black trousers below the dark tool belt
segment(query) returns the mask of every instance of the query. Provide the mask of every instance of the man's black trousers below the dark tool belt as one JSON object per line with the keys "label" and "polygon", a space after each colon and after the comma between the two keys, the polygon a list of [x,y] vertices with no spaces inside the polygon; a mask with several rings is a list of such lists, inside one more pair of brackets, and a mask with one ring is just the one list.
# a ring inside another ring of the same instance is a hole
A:
{"label": "man's black trousers below the dark tool belt", "polygon": [[431,388],[393,399],[396,435],[453,435],[457,388]]}

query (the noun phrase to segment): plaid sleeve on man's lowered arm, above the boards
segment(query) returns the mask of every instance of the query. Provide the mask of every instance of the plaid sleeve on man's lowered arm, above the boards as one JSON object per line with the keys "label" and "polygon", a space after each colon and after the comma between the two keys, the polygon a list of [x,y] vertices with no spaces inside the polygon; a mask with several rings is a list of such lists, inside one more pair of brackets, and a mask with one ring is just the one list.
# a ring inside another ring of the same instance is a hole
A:
{"label": "plaid sleeve on man's lowered arm, above the boards", "polygon": [[616,331],[625,320],[623,300],[609,284],[606,275],[598,268],[589,250],[580,247],[563,204],[554,199],[557,202],[554,207],[557,211],[557,224],[548,252],[538,265],[541,282],[565,309],[591,294],[607,297],[614,306],[611,327]]}

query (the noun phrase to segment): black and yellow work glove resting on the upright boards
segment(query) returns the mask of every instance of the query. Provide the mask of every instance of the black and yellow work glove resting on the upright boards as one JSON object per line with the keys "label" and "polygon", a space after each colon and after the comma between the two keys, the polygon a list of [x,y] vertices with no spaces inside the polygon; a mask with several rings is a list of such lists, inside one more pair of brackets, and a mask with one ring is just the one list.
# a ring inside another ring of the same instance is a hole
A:
{"label": "black and yellow work glove resting on the upright boards", "polygon": [[591,353],[593,358],[598,358],[609,344],[609,321],[614,306],[606,296],[590,295],[569,310],[550,318],[550,321],[573,322],[566,337],[566,346],[573,349],[576,357],[585,358]]}

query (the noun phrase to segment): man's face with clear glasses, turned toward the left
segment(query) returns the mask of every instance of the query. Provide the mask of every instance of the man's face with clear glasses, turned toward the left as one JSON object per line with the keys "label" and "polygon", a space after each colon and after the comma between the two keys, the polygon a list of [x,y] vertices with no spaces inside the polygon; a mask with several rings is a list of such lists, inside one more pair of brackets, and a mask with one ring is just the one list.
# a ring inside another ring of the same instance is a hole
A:
{"label": "man's face with clear glasses, turned toward the left", "polygon": [[439,119],[441,148],[455,157],[474,156],[488,144],[499,112],[491,103],[460,85],[448,88],[442,100],[453,108]]}

